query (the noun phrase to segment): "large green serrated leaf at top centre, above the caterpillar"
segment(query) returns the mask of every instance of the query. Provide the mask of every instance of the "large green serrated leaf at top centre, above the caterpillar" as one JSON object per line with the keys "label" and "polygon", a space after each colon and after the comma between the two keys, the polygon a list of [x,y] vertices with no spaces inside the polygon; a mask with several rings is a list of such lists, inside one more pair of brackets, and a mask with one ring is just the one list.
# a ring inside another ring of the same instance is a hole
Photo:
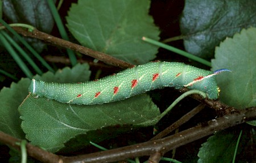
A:
{"label": "large green serrated leaf at top centre, above the caterpillar", "polygon": [[149,8],[147,0],[83,0],[72,4],[67,27],[81,45],[138,65],[158,52],[142,41],[142,36],[159,40]]}

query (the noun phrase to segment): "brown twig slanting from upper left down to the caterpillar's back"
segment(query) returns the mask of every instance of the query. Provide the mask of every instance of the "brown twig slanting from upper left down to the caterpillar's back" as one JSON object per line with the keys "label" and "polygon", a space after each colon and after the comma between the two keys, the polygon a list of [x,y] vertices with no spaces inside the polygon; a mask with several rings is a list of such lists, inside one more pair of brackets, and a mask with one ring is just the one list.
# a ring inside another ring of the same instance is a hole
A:
{"label": "brown twig slanting from upper left down to the caterpillar's back", "polygon": [[40,40],[49,42],[49,43],[54,44],[54,45],[58,45],[58,46],[61,46],[61,47],[64,47],[64,48],[72,49],[76,52],[79,52],[79,53],[82,53],[82,54],[85,54],[85,55],[89,55],[90,57],[96,58],[96,59],[98,59],[102,62],[108,63],[110,65],[114,65],[114,66],[121,67],[121,68],[134,67],[134,65],[131,64],[131,63],[127,63],[127,62],[122,61],[120,59],[114,58],[110,55],[107,55],[107,54],[104,54],[104,53],[101,53],[101,52],[97,52],[96,50],[92,50],[92,49],[86,48],[84,46],[74,44],[72,42],[63,40],[61,38],[57,38],[57,37],[48,35],[47,33],[40,32],[37,29],[34,29],[32,32],[26,31],[26,30],[24,30],[23,28],[20,28],[20,27],[13,27],[13,29],[16,32],[23,35],[23,36],[38,38]]}

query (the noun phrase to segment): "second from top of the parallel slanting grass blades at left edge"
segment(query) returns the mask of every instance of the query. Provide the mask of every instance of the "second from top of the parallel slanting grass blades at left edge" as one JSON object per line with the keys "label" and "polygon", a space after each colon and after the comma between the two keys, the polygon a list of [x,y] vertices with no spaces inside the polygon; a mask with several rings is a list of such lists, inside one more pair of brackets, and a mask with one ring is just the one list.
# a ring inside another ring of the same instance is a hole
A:
{"label": "second from top of the parallel slanting grass blades at left edge", "polygon": [[39,74],[39,75],[43,74],[43,71],[41,71],[40,68],[36,66],[35,62],[30,58],[29,55],[27,55],[27,53],[22,48],[20,48],[20,46],[13,40],[13,38],[7,35],[5,31],[2,31],[2,34],[14,46],[14,48],[16,48],[18,52],[22,54],[22,56],[27,60],[27,62],[30,63],[30,65],[36,71],[36,74]]}

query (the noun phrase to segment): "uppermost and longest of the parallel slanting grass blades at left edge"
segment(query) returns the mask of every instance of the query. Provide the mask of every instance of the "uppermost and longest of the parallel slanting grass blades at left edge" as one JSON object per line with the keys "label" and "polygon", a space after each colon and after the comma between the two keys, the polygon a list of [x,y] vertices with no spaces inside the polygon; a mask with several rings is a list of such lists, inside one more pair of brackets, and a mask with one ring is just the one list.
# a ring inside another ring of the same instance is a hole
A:
{"label": "uppermost and longest of the parallel slanting grass blades at left edge", "polygon": [[46,61],[44,61],[44,59],[38,54],[38,52],[36,52],[28,43],[26,40],[24,40],[24,38],[22,38],[21,36],[19,36],[19,34],[17,32],[14,31],[13,28],[11,28],[5,21],[3,21],[3,19],[0,19],[0,23],[5,25],[5,27],[11,32],[13,33],[14,36],[16,36],[18,38],[18,40],[20,42],[22,42],[22,44],[24,46],[26,46],[26,48],[28,50],[30,50],[30,52],[42,63],[42,65],[44,67],[46,67],[49,71],[55,72],[53,70],[53,68],[51,66],[48,65],[48,63]]}

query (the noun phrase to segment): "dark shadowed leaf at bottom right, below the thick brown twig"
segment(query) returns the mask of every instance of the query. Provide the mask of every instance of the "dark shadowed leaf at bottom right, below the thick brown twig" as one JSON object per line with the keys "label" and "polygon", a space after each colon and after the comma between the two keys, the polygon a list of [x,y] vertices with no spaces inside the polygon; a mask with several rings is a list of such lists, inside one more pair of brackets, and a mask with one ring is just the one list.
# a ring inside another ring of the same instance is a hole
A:
{"label": "dark shadowed leaf at bottom right, below the thick brown twig", "polygon": [[198,153],[198,163],[232,162],[237,134],[221,131],[210,136]]}

